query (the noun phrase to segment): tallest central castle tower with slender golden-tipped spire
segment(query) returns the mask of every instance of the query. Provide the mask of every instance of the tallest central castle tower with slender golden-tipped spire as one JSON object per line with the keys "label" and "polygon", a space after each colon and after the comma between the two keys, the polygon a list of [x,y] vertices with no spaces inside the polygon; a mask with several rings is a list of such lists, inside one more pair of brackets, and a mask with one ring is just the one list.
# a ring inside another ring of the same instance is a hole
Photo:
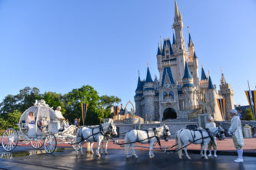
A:
{"label": "tallest central castle tower with slender golden-tipped spire", "polygon": [[185,70],[185,61],[188,59],[188,51],[185,49],[185,41],[183,38],[183,22],[181,12],[178,10],[178,5],[175,0],[175,18],[172,28],[175,30],[175,44],[173,50],[175,52],[175,64],[171,67],[171,71],[178,84],[182,84],[182,77]]}

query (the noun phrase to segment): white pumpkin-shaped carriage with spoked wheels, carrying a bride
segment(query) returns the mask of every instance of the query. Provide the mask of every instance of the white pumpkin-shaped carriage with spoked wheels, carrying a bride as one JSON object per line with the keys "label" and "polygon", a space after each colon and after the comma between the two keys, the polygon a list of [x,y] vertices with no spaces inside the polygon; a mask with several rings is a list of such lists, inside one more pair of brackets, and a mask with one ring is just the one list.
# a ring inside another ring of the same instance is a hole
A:
{"label": "white pumpkin-shaped carriage with spoked wheels, carrying a bride", "polygon": [[[65,130],[60,129],[62,121],[55,118],[52,110],[44,100],[35,102],[35,105],[25,110],[19,119],[18,129],[6,129],[2,135],[2,147],[5,151],[15,149],[18,142],[31,143],[35,149],[44,146],[47,153],[55,151],[57,142],[74,143],[75,126],[68,126]],[[29,117],[30,114],[33,116]],[[75,147],[75,145],[73,145]]]}

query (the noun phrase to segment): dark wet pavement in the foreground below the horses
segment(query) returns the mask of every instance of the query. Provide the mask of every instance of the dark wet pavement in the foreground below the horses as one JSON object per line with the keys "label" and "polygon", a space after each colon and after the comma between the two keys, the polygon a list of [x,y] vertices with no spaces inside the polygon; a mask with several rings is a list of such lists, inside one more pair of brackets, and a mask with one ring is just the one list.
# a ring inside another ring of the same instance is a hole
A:
{"label": "dark wet pavement in the foreground below the horses", "polygon": [[[17,147],[13,154],[7,154],[0,148],[2,156],[12,156],[12,159],[0,159],[2,169],[256,169],[255,157],[244,157],[244,163],[234,163],[235,156],[219,155],[217,159],[201,159],[200,155],[191,155],[191,160],[178,159],[177,154],[155,152],[155,159],[148,159],[148,151],[136,151],[138,159],[125,159],[123,150],[111,149],[109,155],[96,158],[94,155],[75,155],[75,151],[58,149],[53,154],[32,150],[31,147]],[[38,154],[41,153],[41,154]],[[29,155],[30,154],[30,155]],[[37,155],[34,155],[37,154]]]}

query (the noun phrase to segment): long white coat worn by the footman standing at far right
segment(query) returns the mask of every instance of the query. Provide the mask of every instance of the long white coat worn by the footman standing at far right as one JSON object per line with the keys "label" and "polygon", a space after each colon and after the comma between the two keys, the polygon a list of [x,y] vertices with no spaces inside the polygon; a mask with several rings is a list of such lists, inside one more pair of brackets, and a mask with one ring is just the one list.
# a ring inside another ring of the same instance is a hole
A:
{"label": "long white coat worn by the footman standing at far right", "polygon": [[238,116],[233,116],[233,118],[231,119],[231,126],[228,129],[228,132],[231,132],[233,134],[236,142],[238,142],[241,147],[244,146],[244,137],[241,130],[241,121]]}

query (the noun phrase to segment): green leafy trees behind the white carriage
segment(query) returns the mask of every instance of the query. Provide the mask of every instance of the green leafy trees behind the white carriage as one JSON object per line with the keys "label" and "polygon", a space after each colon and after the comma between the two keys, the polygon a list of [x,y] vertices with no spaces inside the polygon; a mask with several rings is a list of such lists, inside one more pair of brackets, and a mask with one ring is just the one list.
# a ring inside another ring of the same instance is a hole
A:
{"label": "green leafy trees behind the white carriage", "polygon": [[73,123],[75,118],[81,119],[81,103],[88,103],[85,125],[95,125],[103,118],[110,117],[111,107],[114,103],[121,102],[117,96],[98,96],[98,92],[89,85],[73,89],[63,95],[50,91],[40,93],[36,87],[25,87],[17,95],[6,96],[0,103],[0,129],[16,127],[15,124],[22,113],[33,106],[35,100],[41,99],[55,110],[57,106],[62,106],[62,114],[70,123]]}

